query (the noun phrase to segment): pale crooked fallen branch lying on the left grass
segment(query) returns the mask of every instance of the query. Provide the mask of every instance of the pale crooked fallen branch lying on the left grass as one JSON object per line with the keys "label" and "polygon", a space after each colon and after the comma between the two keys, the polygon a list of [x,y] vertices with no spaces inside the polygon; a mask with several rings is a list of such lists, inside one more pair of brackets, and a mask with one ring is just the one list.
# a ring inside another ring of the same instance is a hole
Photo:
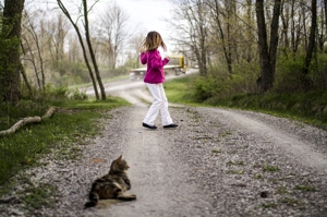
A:
{"label": "pale crooked fallen branch lying on the left grass", "polygon": [[2,135],[8,135],[11,133],[16,132],[20,128],[28,124],[28,123],[38,123],[41,122],[43,119],[45,118],[50,118],[56,111],[56,107],[50,107],[47,112],[45,113],[45,116],[43,116],[41,118],[38,116],[35,117],[27,117],[27,118],[23,118],[22,120],[20,120],[19,122],[16,122],[13,126],[11,126],[8,130],[4,131],[0,131],[0,136]]}

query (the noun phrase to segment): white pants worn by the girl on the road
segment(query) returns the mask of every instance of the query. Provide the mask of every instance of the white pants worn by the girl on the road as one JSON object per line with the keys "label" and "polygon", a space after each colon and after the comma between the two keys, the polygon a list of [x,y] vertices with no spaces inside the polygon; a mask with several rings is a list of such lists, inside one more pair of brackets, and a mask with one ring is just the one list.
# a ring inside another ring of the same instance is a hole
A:
{"label": "white pants worn by the girl on the road", "polygon": [[154,101],[150,108],[148,109],[143,122],[150,125],[155,125],[155,119],[157,118],[158,112],[160,110],[162,125],[171,124],[172,120],[168,111],[168,100],[165,94],[164,85],[149,83],[145,84],[149,89],[150,94],[153,95]]}

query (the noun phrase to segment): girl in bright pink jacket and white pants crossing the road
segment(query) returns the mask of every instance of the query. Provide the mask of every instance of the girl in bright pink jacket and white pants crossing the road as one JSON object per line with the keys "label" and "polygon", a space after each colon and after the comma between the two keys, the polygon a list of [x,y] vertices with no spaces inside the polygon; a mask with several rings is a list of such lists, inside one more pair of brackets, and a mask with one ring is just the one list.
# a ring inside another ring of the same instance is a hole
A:
{"label": "girl in bright pink jacket and white pants crossing the road", "polygon": [[154,122],[159,111],[164,128],[178,126],[178,124],[172,122],[168,111],[168,100],[162,83],[165,82],[164,65],[169,62],[169,57],[166,57],[164,60],[161,59],[160,52],[158,51],[158,47],[160,46],[165,51],[167,50],[160,34],[157,32],[149,32],[143,40],[142,48],[140,50],[142,64],[147,64],[144,82],[154,97],[153,105],[143,120],[143,126],[149,129],[157,129]]}

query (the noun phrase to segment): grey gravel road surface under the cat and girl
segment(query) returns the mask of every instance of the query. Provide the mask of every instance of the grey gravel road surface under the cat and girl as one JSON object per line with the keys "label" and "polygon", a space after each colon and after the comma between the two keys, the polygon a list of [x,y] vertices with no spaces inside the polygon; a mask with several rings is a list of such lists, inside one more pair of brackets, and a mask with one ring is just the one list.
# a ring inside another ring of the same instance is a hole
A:
{"label": "grey gravel road surface under the cat and girl", "polygon": [[[47,166],[25,171],[34,183],[58,186],[56,207],[32,214],[22,203],[0,204],[0,216],[327,216],[326,131],[256,112],[193,107],[170,107],[179,128],[164,130],[158,119],[152,131],[141,124],[147,105],[131,100],[134,106],[109,111],[98,137],[76,144],[81,160],[48,156]],[[137,200],[83,209],[93,180],[121,154],[131,166],[128,193]]]}

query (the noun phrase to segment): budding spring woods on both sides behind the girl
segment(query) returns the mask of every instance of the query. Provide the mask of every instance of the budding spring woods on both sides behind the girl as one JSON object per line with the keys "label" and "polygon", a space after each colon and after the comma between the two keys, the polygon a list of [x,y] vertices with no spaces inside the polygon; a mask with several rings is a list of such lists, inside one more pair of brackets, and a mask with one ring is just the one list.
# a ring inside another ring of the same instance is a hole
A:
{"label": "budding spring woods on both sides behind the girl", "polygon": [[[144,33],[131,31],[119,1],[106,4],[104,13],[94,11],[100,0],[43,2],[47,7],[1,3],[1,101],[83,83],[106,99],[102,79],[138,67]],[[191,87],[196,100],[326,89],[327,0],[170,2],[169,40],[199,70]]]}

